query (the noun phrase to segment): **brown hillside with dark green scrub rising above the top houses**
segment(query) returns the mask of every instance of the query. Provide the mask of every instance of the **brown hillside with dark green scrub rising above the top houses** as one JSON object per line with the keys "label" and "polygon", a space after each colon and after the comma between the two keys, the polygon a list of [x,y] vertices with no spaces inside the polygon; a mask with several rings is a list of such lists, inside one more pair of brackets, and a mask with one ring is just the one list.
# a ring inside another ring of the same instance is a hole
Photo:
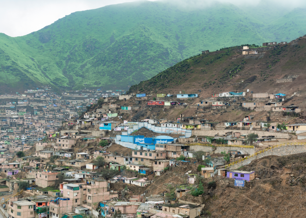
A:
{"label": "brown hillside with dark green scrub rising above the top houses", "polygon": [[[132,86],[136,93],[197,93],[200,98],[223,91],[254,93],[306,92],[306,37],[285,45],[254,47],[256,55],[242,55],[242,46],[200,54],[186,59],[150,80]],[[204,48],[203,48],[204,50]],[[293,82],[277,83],[277,79],[293,78]],[[201,90],[199,92],[198,90]]]}

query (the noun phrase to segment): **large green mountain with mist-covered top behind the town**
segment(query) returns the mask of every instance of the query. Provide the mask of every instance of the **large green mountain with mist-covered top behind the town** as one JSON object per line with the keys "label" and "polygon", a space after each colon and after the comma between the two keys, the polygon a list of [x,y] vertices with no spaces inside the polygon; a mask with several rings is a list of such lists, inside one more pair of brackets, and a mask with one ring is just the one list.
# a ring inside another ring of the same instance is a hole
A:
{"label": "large green mountain with mist-covered top behind the town", "polygon": [[1,88],[127,88],[203,50],[305,34],[305,9],[263,8],[139,1],[75,12],[22,37],[0,34]]}

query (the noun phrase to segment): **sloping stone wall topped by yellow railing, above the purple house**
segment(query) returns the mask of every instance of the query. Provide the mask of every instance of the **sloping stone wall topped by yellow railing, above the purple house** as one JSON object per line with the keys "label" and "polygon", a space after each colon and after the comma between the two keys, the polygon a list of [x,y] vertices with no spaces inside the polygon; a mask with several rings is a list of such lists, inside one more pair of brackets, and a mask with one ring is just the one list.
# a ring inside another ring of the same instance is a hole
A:
{"label": "sloping stone wall topped by yellow railing, above the purple house", "polygon": [[306,145],[285,145],[285,146],[282,146],[282,147],[274,148],[274,149],[271,149],[270,151],[261,153],[259,155],[256,155],[255,157],[247,159],[247,160],[245,160],[241,163],[237,163],[233,166],[227,167],[226,169],[227,170],[237,169],[240,166],[244,166],[248,163],[251,163],[252,160],[259,159],[259,158],[262,158],[262,157],[266,157],[266,156],[269,156],[269,155],[285,156],[285,155],[303,153],[303,152],[306,152],[306,147],[305,146]]}

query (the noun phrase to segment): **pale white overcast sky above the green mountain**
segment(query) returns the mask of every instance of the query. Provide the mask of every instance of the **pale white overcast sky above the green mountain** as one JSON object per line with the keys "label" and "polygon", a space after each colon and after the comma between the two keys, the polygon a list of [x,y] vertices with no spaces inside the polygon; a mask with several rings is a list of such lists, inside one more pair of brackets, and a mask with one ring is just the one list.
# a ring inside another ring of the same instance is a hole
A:
{"label": "pale white overcast sky above the green mountain", "polygon": [[[54,21],[76,11],[96,9],[106,5],[133,2],[135,0],[0,0],[0,33],[15,37],[40,30]],[[149,0],[155,1],[155,0]],[[187,0],[168,0],[179,4]],[[212,0],[188,0],[188,4],[207,4]],[[235,5],[258,4],[267,0],[219,0]],[[274,4],[297,7],[305,0],[270,0]],[[273,4],[272,4],[273,5]],[[273,6],[272,6],[273,7]]]}

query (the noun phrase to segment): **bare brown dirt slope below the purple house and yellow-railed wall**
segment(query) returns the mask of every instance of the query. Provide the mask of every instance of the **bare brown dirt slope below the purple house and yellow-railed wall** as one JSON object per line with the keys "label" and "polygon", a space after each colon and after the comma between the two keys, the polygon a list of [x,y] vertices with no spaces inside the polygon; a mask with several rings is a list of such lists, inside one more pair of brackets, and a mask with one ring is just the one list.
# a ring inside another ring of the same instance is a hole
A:
{"label": "bare brown dirt slope below the purple house and yellow-railed wall", "polygon": [[[250,190],[218,187],[207,197],[212,217],[305,217],[306,153],[268,156],[239,170],[255,170]],[[288,184],[288,178],[295,182]]]}

